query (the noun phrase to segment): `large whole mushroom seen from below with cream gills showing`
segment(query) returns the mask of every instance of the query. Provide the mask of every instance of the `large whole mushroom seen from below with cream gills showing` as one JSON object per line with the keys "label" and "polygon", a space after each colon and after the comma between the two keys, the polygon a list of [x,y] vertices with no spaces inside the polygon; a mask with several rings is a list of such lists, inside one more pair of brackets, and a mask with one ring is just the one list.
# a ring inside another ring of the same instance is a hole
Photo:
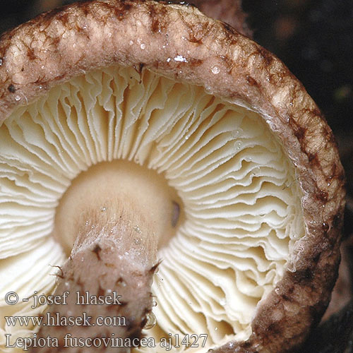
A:
{"label": "large whole mushroom seen from below with cream gills showing", "polygon": [[[69,289],[49,313],[128,324],[38,335],[139,338],[149,321],[156,347],[136,352],[304,342],[337,275],[344,174],[279,59],[193,6],[148,0],[44,13],[1,38],[0,58],[2,315],[43,313],[23,299]],[[121,298],[83,308],[80,291]],[[1,318],[1,349],[37,329]]]}

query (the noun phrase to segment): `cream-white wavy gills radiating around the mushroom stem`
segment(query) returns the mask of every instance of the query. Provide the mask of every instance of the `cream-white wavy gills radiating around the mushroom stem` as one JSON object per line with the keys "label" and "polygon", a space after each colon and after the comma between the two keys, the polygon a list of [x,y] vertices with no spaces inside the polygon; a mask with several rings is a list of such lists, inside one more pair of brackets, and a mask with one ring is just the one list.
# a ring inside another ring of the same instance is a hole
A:
{"label": "cream-white wavy gills radiating around the mushroom stem", "polygon": [[[196,349],[205,352],[246,340],[258,302],[304,237],[294,165],[265,120],[146,69],[91,71],[16,108],[0,128],[0,151],[0,310],[8,316],[44,311],[21,300],[6,306],[4,294],[11,289],[22,299],[52,291],[49,265],[61,265],[61,246],[69,251],[74,240],[67,215],[55,222],[63,196],[83,173],[116,160],[154,170],[164,180],[156,184],[172,190],[170,201],[180,198],[183,217],[160,235],[162,263],[152,285],[157,323],[145,330],[156,343],[169,334],[207,334],[205,347]],[[153,196],[148,203],[152,210]],[[138,239],[136,227],[131,223]],[[0,324],[1,352],[12,352],[5,333],[15,340],[33,330]],[[195,351],[181,345],[172,352],[184,349]]]}

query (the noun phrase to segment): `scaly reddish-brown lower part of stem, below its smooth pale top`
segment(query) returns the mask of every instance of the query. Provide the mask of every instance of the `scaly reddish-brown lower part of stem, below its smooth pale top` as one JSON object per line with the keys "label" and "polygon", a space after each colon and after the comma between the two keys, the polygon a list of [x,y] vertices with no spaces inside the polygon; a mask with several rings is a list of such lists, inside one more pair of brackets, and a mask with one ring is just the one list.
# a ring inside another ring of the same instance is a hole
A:
{"label": "scaly reddish-brown lower part of stem, below its smooth pale top", "polygon": [[[50,307],[37,337],[56,337],[61,348],[67,347],[66,352],[78,352],[76,340],[81,338],[129,338],[131,344],[138,344],[152,310],[150,286],[154,267],[145,268],[138,261],[131,263],[124,251],[132,249],[116,246],[107,237],[92,244],[85,241],[59,273],[54,296],[64,298],[67,293],[67,304]],[[68,326],[72,320],[74,324]],[[113,340],[107,342],[112,347],[107,347],[106,352],[129,352],[127,347],[114,347]],[[84,345],[88,349],[90,342]],[[46,349],[34,348],[32,352]]]}

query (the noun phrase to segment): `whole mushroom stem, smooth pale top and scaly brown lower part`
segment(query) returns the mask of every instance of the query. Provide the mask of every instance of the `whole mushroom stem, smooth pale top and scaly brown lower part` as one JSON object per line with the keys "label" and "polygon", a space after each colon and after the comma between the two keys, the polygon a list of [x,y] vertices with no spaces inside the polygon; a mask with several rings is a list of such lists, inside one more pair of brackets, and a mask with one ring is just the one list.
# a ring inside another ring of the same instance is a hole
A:
{"label": "whole mushroom stem, smooth pale top and scaly brown lower part", "polygon": [[114,339],[138,345],[148,321],[157,244],[168,230],[164,226],[172,223],[173,204],[168,188],[148,169],[148,175],[141,170],[128,162],[98,166],[80,177],[61,202],[58,222],[70,213],[73,222],[57,225],[56,237],[65,229],[67,245],[77,234],[54,292],[67,297],[66,305],[61,300],[49,306],[37,337],[58,338],[66,352],[78,352],[75,338],[102,337],[110,339],[105,352],[129,352],[126,347],[116,350]]}

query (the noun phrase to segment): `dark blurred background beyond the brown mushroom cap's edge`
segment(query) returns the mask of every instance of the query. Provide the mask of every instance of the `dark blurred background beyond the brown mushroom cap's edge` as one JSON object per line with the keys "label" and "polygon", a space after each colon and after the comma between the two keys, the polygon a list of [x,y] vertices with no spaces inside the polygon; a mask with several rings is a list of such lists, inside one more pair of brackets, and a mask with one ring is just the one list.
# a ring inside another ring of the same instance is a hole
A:
{"label": "dark blurred background beyond the brown mushroom cap's edge", "polygon": [[[0,33],[70,2],[0,0]],[[341,304],[330,308],[333,313],[353,292],[353,0],[243,0],[243,8],[256,42],[277,54],[304,83],[340,148],[347,174],[347,207],[335,294]],[[353,353],[352,303],[313,333],[306,352]]]}

